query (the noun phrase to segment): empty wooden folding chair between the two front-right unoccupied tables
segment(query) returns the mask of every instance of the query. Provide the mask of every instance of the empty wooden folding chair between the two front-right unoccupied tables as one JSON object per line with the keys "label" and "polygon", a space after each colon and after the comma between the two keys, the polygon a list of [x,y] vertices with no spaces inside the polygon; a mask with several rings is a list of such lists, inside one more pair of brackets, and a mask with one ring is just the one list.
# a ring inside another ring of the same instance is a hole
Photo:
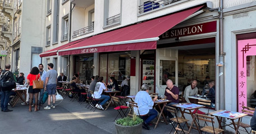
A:
{"label": "empty wooden folding chair between the two front-right unoccupied tables", "polygon": [[[207,133],[221,133],[223,132],[224,130],[220,129],[220,128],[215,128],[213,126],[213,123],[215,123],[214,120],[214,116],[206,116],[206,115],[203,115],[203,114],[198,114],[196,113],[195,115],[196,117],[194,118],[193,122],[192,122],[192,126],[193,126],[193,123],[196,121],[198,123],[198,127],[199,127],[199,130],[200,132],[202,133],[203,132],[207,132]],[[202,121],[206,121],[206,122],[210,122],[212,125],[211,126],[204,126],[203,128],[200,127],[200,122],[199,120],[202,120]]]}

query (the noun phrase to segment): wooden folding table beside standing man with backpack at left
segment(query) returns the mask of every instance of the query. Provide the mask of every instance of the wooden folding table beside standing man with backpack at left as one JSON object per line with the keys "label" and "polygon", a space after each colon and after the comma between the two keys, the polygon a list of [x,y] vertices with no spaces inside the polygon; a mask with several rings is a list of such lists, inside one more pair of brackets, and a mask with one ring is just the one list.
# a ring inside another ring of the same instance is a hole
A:
{"label": "wooden folding table beside standing man with backpack at left", "polygon": [[15,92],[16,95],[15,97],[12,98],[10,105],[12,107],[14,107],[18,100],[21,99],[25,104],[26,103],[26,98],[23,98],[22,95],[24,95],[26,97],[26,92],[27,92],[27,88],[26,87],[17,87],[15,90],[12,90],[12,92]]}

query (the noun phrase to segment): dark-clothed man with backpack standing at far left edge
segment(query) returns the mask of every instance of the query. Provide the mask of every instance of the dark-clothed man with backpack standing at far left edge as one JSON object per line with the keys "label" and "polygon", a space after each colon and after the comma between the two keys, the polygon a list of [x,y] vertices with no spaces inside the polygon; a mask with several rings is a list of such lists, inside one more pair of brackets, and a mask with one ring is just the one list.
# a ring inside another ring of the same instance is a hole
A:
{"label": "dark-clothed man with backpack standing at far left edge", "polygon": [[[4,80],[4,82],[6,82],[8,79],[14,80],[13,78],[13,74],[10,71],[11,69],[11,65],[7,64],[6,69],[3,71],[2,74],[6,73],[6,79]],[[8,72],[7,72],[8,71]],[[12,110],[8,109],[8,102],[9,102],[9,98],[10,98],[10,94],[12,89],[9,88],[1,88],[1,111],[3,112],[11,112]]]}

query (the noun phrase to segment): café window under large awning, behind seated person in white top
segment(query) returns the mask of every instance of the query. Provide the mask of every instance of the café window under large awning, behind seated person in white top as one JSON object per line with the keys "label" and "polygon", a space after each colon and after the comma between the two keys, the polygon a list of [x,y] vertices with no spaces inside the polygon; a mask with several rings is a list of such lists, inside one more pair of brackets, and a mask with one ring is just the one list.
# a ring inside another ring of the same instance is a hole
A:
{"label": "caf\u00e9 window under large awning, behind seated person in white top", "polygon": [[100,55],[100,76],[103,76],[105,82],[108,82],[110,76],[114,76],[118,84],[121,84],[124,77],[130,76],[130,70],[131,52]]}

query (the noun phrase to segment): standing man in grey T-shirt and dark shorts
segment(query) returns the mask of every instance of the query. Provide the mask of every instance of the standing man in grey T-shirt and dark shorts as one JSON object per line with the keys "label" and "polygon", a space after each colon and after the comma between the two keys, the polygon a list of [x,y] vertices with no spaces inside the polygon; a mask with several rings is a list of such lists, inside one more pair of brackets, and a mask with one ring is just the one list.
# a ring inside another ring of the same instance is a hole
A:
{"label": "standing man in grey T-shirt and dark shorts", "polygon": [[[48,106],[46,106],[44,109],[50,109],[50,107],[55,108],[55,92],[57,87],[57,76],[58,73],[53,69],[53,64],[48,63],[48,70],[46,73],[46,79],[44,84],[44,90],[47,90],[48,92]],[[53,105],[50,106],[50,97],[53,97]]]}

